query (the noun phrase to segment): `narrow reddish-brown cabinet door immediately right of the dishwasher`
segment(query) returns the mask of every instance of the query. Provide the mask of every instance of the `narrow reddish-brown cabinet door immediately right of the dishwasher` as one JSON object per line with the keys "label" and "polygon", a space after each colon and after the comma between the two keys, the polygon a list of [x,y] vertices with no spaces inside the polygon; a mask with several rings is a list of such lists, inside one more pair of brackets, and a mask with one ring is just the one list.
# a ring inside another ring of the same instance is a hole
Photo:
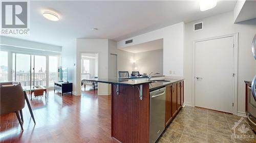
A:
{"label": "narrow reddish-brown cabinet door immediately right of the dishwasher", "polygon": [[165,96],[165,127],[170,122],[172,118],[172,85],[166,86],[166,96]]}

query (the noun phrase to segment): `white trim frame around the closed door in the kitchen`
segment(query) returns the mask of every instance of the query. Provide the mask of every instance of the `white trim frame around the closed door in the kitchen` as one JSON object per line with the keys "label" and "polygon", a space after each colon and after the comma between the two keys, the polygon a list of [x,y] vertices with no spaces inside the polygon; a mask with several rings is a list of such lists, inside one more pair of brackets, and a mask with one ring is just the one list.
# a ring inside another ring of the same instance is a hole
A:
{"label": "white trim frame around the closed door in the kitchen", "polygon": [[[195,82],[196,82],[196,72],[195,72],[195,65],[196,65],[196,57],[195,57],[195,48],[197,42],[207,41],[207,40],[214,40],[226,37],[233,37],[233,73],[234,73],[234,80],[233,80],[233,114],[238,114],[238,33],[228,34],[224,36],[217,36],[211,38],[205,38],[200,40],[194,40],[192,44],[192,105],[195,106],[196,99],[195,99]],[[230,75],[231,76],[231,75]]]}

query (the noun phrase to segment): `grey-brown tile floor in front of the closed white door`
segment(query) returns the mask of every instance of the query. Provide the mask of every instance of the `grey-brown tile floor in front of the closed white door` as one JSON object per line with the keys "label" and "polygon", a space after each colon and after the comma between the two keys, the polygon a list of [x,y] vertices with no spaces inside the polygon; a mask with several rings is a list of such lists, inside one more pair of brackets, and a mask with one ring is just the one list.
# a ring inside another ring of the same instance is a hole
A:
{"label": "grey-brown tile floor in front of the closed white door", "polygon": [[[256,142],[256,135],[243,118],[240,124],[232,129],[235,122],[242,117],[198,107],[183,107],[173,122],[164,131],[158,142],[179,143],[235,143]],[[248,130],[248,131],[247,131]],[[250,139],[232,139],[231,135],[252,135]]]}

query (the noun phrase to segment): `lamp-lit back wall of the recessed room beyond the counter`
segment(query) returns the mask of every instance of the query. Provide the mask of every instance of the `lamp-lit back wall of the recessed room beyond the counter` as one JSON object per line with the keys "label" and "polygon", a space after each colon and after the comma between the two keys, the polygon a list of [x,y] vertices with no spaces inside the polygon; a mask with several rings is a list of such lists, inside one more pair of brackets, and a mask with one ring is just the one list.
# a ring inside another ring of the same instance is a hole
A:
{"label": "lamp-lit back wall of the recessed room beyond the counter", "polygon": [[134,60],[140,74],[154,72],[163,75],[163,49],[134,53]]}

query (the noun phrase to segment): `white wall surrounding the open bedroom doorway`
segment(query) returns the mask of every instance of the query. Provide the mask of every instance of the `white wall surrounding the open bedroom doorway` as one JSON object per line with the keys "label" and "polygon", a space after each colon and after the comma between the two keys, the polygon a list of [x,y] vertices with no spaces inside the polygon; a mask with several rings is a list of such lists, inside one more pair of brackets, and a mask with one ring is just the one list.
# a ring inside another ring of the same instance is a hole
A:
{"label": "white wall surrounding the open bedroom doorway", "polygon": [[[98,53],[98,78],[108,78],[108,39],[77,39],[77,85],[81,84],[81,53]],[[78,95],[81,95],[81,87],[77,87]],[[98,95],[108,95],[108,84],[98,83]]]}

